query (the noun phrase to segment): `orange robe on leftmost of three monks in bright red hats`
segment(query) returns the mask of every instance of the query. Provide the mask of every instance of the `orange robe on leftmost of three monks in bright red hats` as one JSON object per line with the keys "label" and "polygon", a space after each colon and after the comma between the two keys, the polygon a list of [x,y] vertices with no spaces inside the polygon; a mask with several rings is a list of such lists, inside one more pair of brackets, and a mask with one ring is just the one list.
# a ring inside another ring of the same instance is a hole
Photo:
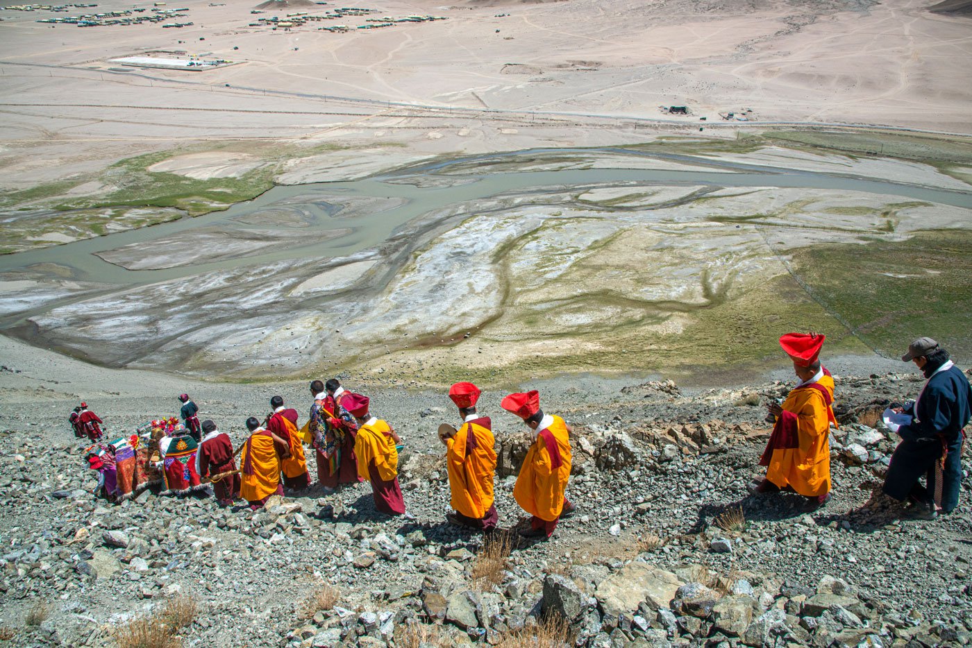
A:
{"label": "orange robe on leftmost of three monks in bright red hats", "polygon": [[[467,453],[469,434],[474,436],[476,447]],[[494,444],[493,432],[475,422],[464,423],[455,436],[446,441],[445,462],[449,470],[452,508],[468,518],[481,519],[493,505]]]}

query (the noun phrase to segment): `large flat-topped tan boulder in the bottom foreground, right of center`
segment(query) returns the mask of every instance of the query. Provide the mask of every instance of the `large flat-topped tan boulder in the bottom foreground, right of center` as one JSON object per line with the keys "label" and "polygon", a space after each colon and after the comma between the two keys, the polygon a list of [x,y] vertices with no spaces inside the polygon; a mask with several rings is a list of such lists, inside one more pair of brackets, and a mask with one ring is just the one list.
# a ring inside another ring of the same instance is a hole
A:
{"label": "large flat-topped tan boulder in the bottom foreground, right of center", "polygon": [[642,602],[653,610],[667,608],[684,584],[671,571],[647,563],[628,563],[608,576],[595,596],[606,614],[632,614]]}

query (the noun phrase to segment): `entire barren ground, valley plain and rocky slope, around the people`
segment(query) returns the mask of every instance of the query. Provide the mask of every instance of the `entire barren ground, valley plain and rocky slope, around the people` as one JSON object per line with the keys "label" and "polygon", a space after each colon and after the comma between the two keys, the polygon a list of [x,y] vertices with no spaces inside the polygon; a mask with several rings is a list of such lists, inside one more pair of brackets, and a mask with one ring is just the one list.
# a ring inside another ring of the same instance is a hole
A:
{"label": "entire barren ground, valley plain and rocky slope, around the people", "polygon": [[[189,598],[153,645],[537,645],[551,609],[576,645],[972,640],[968,480],[911,519],[874,417],[920,389],[910,340],[972,363],[964,0],[268,4],[0,9],[0,643],[146,645],[119,632]],[[837,376],[813,514],[745,491],[789,330]],[[330,376],[405,436],[414,521],[364,486],[116,506],[65,423],[191,392],[238,444]],[[506,527],[500,396],[576,429],[577,520],[495,582],[442,522],[458,380]]]}

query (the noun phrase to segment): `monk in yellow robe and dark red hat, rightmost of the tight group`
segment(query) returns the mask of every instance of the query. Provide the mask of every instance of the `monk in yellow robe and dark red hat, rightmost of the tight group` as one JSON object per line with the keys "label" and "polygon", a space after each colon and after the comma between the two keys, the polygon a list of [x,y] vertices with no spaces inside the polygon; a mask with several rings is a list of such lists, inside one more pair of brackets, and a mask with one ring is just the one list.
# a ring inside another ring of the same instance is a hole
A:
{"label": "monk in yellow robe and dark red hat, rightmost of the tight group", "polygon": [[399,487],[399,451],[401,442],[392,426],[368,413],[369,399],[360,393],[350,393],[344,407],[355,417],[358,433],[355,454],[358,474],[371,482],[374,507],[387,515],[402,515],[405,500]]}

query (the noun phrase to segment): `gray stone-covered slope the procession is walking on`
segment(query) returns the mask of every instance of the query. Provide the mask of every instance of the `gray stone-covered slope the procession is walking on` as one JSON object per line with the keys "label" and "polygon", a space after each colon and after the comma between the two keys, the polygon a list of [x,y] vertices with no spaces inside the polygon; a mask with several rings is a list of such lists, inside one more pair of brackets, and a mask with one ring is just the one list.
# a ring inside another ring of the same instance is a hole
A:
{"label": "gray stone-covered slope the procession is walking on", "polygon": [[[761,403],[791,385],[560,394],[545,409],[573,425],[577,511],[550,541],[520,542],[508,557],[502,541],[487,551],[481,535],[445,524],[443,453],[415,431],[455,416],[420,392],[399,390],[383,411],[406,422],[399,478],[414,520],[377,514],[366,485],[315,486],[259,512],[151,492],[111,504],[91,495],[63,402],[5,407],[0,645],[116,645],[132,620],[173,601],[196,609],[168,643],[122,645],[526,645],[545,617],[568,635],[557,643],[576,645],[965,645],[969,482],[936,521],[880,495],[894,444],[875,412],[920,380],[837,384],[834,498],[814,512],[795,495],[746,494],[769,432]],[[242,421],[220,395],[196,395],[203,417]],[[119,399],[114,419],[111,405],[100,412],[113,432],[156,404],[134,400]],[[505,413],[485,413],[503,421],[497,504],[508,529],[526,442]]]}

